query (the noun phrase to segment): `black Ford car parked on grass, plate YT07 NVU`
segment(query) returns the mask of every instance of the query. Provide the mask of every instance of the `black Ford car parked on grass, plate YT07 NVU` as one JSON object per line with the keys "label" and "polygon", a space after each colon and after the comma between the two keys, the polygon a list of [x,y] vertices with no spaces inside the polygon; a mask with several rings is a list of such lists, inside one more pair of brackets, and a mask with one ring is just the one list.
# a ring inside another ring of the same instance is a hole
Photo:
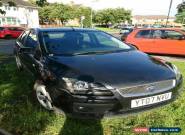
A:
{"label": "black Ford car parked on grass, plate YT07 NVU", "polygon": [[173,101],[182,86],[175,65],[98,30],[29,29],[17,39],[14,54],[18,68],[36,77],[40,104],[73,117],[154,108]]}

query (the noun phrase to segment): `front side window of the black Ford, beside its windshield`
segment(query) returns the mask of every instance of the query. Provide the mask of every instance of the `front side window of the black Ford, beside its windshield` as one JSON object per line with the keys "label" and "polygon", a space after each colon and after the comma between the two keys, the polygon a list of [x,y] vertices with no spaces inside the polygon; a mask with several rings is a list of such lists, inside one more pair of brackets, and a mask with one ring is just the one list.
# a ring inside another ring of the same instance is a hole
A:
{"label": "front side window of the black Ford, beside its windshield", "polygon": [[35,31],[31,30],[25,43],[26,47],[35,48],[37,46],[37,35]]}

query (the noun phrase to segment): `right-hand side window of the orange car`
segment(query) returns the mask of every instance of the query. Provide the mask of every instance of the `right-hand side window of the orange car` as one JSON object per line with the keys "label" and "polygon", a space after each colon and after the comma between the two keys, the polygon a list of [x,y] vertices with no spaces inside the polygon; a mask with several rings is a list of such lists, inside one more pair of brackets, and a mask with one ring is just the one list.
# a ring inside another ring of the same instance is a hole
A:
{"label": "right-hand side window of the orange car", "polygon": [[173,30],[166,30],[163,35],[166,39],[178,40],[183,34]]}

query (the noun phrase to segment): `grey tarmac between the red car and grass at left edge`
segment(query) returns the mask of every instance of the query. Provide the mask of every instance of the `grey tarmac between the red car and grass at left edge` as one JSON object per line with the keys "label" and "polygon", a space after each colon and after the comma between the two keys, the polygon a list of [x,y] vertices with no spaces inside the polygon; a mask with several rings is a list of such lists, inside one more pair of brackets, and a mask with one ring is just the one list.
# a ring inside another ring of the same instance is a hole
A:
{"label": "grey tarmac between the red car and grass at left edge", "polygon": [[13,54],[14,39],[0,40],[0,54]]}

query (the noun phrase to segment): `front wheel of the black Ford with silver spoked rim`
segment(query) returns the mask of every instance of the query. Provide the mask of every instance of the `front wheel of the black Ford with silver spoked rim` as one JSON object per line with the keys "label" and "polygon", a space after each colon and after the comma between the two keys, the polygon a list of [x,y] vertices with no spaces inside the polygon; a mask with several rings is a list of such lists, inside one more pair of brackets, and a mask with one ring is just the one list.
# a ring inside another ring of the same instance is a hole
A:
{"label": "front wheel of the black Ford with silver spoked rim", "polygon": [[34,97],[36,97],[37,101],[40,103],[42,107],[49,111],[54,110],[54,106],[52,104],[52,100],[49,92],[47,92],[47,88],[42,81],[37,80],[34,84]]}

